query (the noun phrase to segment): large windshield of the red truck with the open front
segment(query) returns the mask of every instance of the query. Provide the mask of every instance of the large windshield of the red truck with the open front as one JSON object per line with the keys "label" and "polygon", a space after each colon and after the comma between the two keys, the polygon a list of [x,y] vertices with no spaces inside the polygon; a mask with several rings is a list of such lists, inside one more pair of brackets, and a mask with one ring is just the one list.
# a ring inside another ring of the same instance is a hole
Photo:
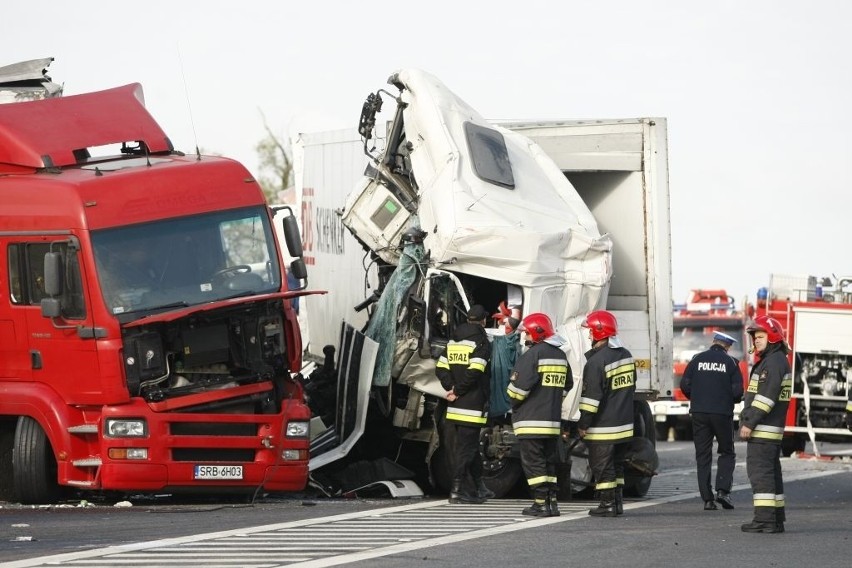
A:
{"label": "large windshield of the red truck with the open front", "polygon": [[113,314],[278,290],[273,239],[263,207],[92,232],[98,280]]}

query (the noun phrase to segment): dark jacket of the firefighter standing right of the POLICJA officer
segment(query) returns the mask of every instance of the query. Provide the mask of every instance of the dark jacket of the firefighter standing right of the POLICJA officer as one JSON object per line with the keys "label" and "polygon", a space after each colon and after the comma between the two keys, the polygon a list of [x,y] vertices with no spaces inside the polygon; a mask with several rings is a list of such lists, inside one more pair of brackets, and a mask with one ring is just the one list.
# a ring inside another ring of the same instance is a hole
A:
{"label": "dark jacket of the firefighter standing right of the POLICJA officer", "polygon": [[752,429],[750,442],[780,444],[793,379],[782,343],[770,343],[751,369],[740,423]]}

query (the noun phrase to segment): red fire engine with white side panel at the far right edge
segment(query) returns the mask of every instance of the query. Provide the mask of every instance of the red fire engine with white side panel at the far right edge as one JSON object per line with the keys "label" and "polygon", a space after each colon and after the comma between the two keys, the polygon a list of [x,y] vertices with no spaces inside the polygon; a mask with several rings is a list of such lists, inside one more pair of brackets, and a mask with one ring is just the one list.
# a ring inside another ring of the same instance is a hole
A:
{"label": "red fire engine with white side panel at the far right edge", "polygon": [[818,278],[773,274],[757,293],[756,315],[778,320],[791,348],[793,393],[784,455],[808,440],[849,442],[844,423],[852,366],[852,276]]}

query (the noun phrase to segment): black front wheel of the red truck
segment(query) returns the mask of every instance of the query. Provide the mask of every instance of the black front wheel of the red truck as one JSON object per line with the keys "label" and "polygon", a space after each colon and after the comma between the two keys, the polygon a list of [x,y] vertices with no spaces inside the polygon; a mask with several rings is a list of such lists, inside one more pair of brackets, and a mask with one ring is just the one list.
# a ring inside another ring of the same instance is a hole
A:
{"label": "black front wheel of the red truck", "polygon": [[55,503],[59,499],[53,449],[44,430],[29,416],[18,418],[12,447],[12,483],[21,503]]}

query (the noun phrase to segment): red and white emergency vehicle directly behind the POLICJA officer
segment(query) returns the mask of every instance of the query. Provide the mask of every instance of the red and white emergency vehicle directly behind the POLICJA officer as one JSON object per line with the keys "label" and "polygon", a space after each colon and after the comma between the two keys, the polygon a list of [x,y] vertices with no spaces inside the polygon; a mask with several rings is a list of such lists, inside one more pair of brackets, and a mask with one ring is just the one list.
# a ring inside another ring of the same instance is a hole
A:
{"label": "red and white emergency vehicle directly behind the POLICJA officer", "polygon": [[[672,429],[680,439],[691,439],[689,399],[680,390],[680,380],[686,365],[698,353],[713,343],[713,334],[721,331],[737,340],[728,353],[740,363],[743,386],[748,382],[748,345],[745,333],[749,310],[739,310],[734,299],[724,289],[691,290],[684,304],[674,305],[674,364],[672,368],[671,399],[654,403],[657,438],[665,440]],[[734,420],[739,420],[742,402],[734,407]]]}

